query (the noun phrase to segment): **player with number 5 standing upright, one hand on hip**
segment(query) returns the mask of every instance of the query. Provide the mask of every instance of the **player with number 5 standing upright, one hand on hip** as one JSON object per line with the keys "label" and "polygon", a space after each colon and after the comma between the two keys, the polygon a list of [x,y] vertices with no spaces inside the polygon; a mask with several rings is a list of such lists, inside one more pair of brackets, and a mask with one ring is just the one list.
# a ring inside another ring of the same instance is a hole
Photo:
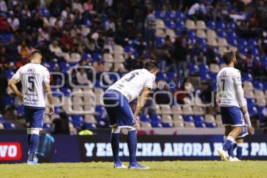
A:
{"label": "player with number 5 standing upright, one hand on hip", "polygon": [[[44,112],[46,108],[44,91],[47,93],[50,102],[49,114],[54,114],[55,111],[49,84],[50,74],[46,67],[41,65],[41,59],[41,51],[32,51],[30,63],[20,67],[8,83],[8,86],[19,97],[23,104],[29,144],[27,164],[31,165],[38,164],[35,151],[39,142],[39,131],[43,128]],[[19,81],[21,81],[22,84],[22,93],[16,87],[16,83]]]}

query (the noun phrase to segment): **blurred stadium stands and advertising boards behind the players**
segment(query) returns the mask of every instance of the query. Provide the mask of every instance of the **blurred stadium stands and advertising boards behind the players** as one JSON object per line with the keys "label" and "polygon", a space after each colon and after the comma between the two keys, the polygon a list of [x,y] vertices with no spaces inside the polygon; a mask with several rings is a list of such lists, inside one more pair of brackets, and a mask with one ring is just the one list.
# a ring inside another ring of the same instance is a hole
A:
{"label": "blurred stadium stands and advertising boards behind the players", "polygon": [[[0,163],[26,158],[23,106],[7,84],[33,49],[41,50],[51,72],[56,104],[55,114],[47,108],[44,116],[43,161],[112,161],[102,94],[147,58],[160,65],[152,90],[158,94],[137,118],[139,157],[218,159],[220,109],[216,102],[195,103],[216,101],[216,75],[226,66],[221,54],[227,49],[236,52],[255,128],[245,158],[267,159],[266,13],[266,0],[0,0],[0,147],[11,142],[22,153],[0,156]],[[183,91],[192,94],[176,94]],[[136,101],[130,104],[134,110]]]}

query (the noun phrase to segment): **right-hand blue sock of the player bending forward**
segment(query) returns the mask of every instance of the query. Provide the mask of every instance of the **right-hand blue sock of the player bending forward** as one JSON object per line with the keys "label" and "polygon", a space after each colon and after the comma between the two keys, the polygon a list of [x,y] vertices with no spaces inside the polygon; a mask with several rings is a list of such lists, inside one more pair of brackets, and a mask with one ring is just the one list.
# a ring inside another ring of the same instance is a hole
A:
{"label": "right-hand blue sock of the player bending forward", "polygon": [[137,131],[129,131],[127,144],[129,149],[130,163],[136,163],[136,148],[137,148]]}

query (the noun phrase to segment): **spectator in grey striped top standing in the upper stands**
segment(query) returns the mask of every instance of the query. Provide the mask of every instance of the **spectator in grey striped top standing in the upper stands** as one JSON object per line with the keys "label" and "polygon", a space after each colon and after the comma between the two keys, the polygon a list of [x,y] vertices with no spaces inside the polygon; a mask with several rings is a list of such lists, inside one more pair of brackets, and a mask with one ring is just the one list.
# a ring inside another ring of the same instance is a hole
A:
{"label": "spectator in grey striped top standing in the upper stands", "polygon": [[[148,32],[148,41],[152,42],[152,47],[155,47],[155,28],[156,28],[156,18],[155,15],[153,14],[153,11],[150,10],[149,14],[146,17],[145,20],[147,32]],[[148,42],[148,44],[150,44]]]}

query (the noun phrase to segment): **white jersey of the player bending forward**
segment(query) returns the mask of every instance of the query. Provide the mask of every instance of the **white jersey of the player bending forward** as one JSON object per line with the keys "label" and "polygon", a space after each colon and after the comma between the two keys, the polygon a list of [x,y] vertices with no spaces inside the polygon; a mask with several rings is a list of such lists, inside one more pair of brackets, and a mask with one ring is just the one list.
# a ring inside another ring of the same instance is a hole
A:
{"label": "white jersey of the player bending forward", "polygon": [[122,93],[131,102],[141,94],[144,87],[152,89],[154,82],[154,74],[146,69],[137,69],[124,75],[108,89]]}

